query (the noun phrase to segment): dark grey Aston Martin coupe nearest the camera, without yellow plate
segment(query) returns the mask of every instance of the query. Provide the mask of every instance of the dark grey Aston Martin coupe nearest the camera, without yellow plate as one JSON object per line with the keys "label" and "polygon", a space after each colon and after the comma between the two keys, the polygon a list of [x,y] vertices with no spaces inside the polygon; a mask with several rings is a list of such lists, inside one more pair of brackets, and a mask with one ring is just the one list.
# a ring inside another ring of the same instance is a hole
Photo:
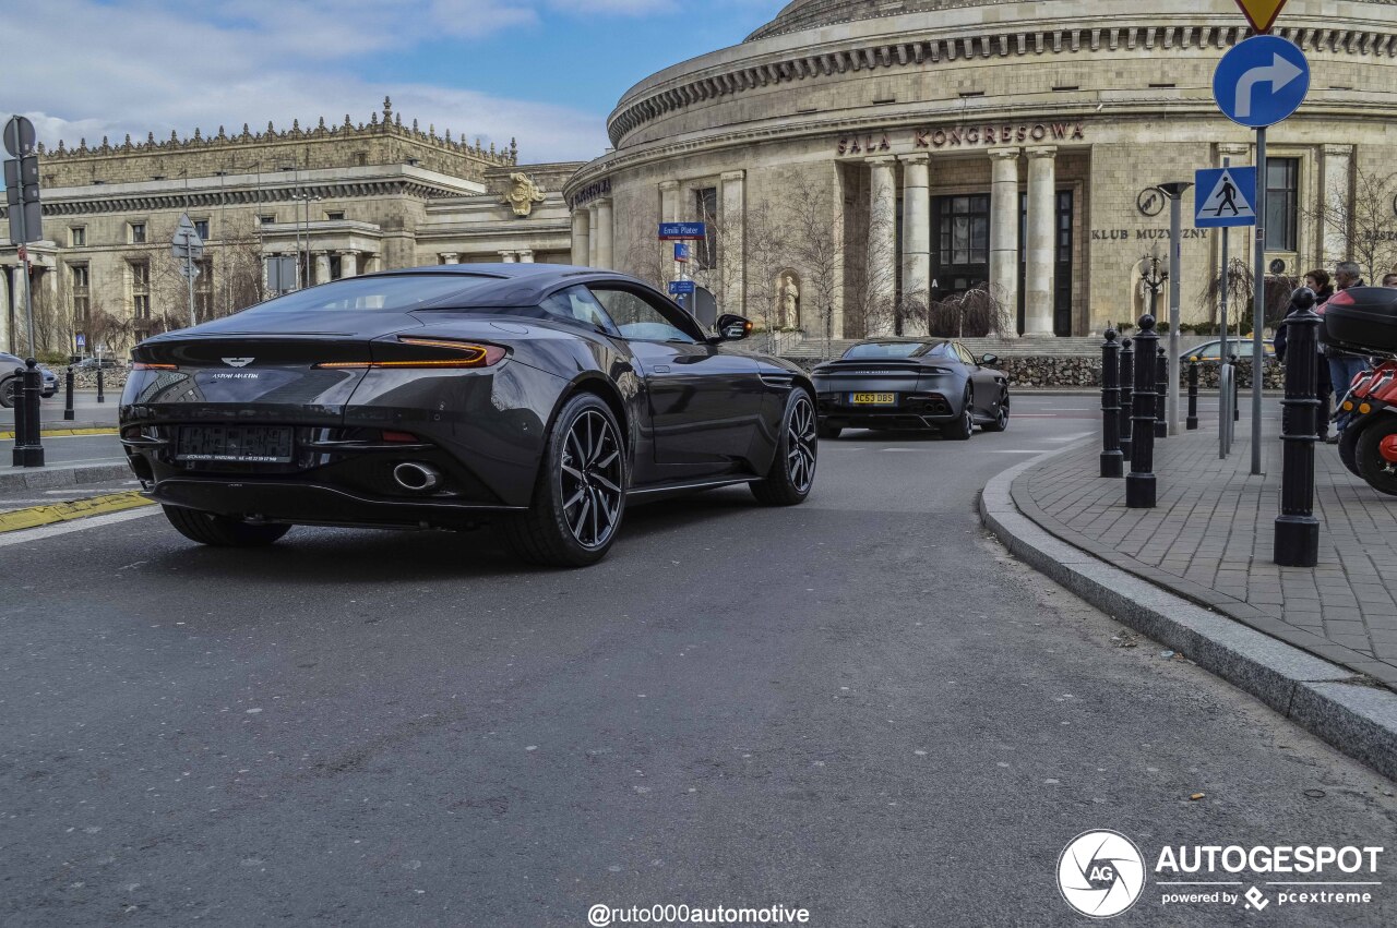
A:
{"label": "dark grey Aston Martin coupe nearest the camera, without yellow plate", "polygon": [[543,264],[348,278],[147,339],[122,442],[147,495],[204,544],[292,525],[468,529],[522,557],[601,560],[627,502],[814,481],[793,364],[710,335],[633,278]]}

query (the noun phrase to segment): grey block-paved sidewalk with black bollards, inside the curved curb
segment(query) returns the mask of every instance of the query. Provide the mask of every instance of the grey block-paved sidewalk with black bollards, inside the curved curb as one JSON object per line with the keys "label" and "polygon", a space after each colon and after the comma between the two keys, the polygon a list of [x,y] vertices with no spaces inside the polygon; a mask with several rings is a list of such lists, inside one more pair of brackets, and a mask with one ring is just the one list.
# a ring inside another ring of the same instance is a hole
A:
{"label": "grey block-paved sidewalk with black bollards, inside the curved curb", "polygon": [[1215,419],[1155,442],[1154,509],[1127,509],[1125,481],[1097,476],[1099,440],[1021,474],[1014,505],[1074,547],[1397,688],[1397,497],[1350,474],[1333,445],[1317,445],[1319,567],[1277,567],[1280,407],[1268,399],[1266,409],[1260,476],[1250,474],[1243,414],[1227,461]]}

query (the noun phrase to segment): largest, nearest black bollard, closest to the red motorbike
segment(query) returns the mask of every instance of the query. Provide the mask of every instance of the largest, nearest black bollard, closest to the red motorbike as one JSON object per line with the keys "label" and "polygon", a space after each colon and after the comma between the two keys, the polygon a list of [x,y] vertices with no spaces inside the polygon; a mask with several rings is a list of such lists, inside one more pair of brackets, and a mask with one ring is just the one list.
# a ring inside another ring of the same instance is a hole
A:
{"label": "largest, nearest black bollard, closest to the red motorbike", "polygon": [[1319,441],[1319,315],[1315,292],[1291,294],[1285,327],[1285,399],[1281,401],[1281,514],[1275,516],[1275,553],[1282,567],[1319,562],[1315,518],[1315,442]]}

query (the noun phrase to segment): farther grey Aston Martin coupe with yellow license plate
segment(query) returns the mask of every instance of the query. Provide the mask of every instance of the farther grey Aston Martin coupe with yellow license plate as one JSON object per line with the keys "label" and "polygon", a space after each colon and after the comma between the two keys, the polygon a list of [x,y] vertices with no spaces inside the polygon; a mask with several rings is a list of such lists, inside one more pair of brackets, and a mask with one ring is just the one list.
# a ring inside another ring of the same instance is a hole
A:
{"label": "farther grey Aston Martin coupe with yellow license plate", "polygon": [[935,428],[965,440],[975,426],[1009,428],[1009,377],[993,354],[975,357],[942,338],[880,338],[814,368],[820,437],[845,428]]}

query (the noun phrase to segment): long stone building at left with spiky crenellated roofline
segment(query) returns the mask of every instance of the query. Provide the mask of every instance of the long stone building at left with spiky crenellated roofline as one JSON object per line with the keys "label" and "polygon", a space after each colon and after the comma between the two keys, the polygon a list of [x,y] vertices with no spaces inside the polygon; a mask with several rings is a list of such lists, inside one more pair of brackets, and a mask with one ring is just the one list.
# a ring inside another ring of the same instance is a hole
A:
{"label": "long stone building at left with spiky crenellated roofline", "polygon": [[[560,193],[506,195],[522,177],[557,191],[578,165],[520,165],[504,149],[404,124],[390,100],[367,123],[42,151],[45,241],[29,246],[39,349],[122,352],[187,324],[170,239],[182,214],[207,248],[200,318],[268,296],[265,260],[296,255],[305,285],[423,264],[570,260]],[[0,216],[4,211],[0,209]],[[0,232],[7,223],[0,222]],[[28,350],[17,248],[0,239],[0,346]]]}

